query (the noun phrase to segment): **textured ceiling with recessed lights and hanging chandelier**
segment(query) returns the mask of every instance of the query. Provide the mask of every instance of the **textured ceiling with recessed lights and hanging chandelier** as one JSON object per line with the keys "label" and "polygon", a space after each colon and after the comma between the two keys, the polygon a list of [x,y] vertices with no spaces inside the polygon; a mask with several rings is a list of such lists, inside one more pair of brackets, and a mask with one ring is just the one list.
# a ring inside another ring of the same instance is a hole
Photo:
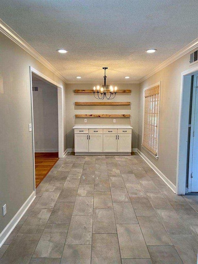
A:
{"label": "textured ceiling with recessed lights and hanging chandelier", "polygon": [[0,1],[0,18],[68,81],[102,81],[102,67],[107,81],[139,80],[198,37],[197,10],[197,0]]}

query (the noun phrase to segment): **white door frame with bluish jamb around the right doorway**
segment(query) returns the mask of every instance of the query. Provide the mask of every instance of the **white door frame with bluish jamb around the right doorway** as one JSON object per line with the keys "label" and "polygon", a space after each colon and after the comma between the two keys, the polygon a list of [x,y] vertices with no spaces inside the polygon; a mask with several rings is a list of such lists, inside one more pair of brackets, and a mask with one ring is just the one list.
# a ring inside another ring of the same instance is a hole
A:
{"label": "white door frame with bluish jamb around the right doorway", "polygon": [[181,73],[176,169],[176,194],[180,195],[185,195],[187,191],[186,169],[189,105],[186,103],[186,101],[190,98],[190,89],[188,91],[187,87],[191,87],[191,76],[195,74],[198,74],[198,65]]}

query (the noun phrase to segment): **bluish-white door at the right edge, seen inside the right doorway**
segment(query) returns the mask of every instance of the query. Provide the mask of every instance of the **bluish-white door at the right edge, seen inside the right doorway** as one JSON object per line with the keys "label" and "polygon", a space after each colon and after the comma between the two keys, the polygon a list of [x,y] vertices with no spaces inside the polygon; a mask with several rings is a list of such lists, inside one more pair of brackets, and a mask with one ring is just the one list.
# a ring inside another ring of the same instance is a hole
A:
{"label": "bluish-white door at the right edge, seen inside the right doorway", "polygon": [[188,189],[198,192],[198,76],[194,76]]}

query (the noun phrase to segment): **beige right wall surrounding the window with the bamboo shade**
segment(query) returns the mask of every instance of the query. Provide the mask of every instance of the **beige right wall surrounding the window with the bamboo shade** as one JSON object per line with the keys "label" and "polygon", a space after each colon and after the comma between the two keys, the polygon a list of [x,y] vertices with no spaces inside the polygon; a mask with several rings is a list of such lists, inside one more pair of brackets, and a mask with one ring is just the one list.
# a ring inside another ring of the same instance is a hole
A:
{"label": "beige right wall surrounding the window with the bamboo shade", "polygon": [[[189,54],[184,55],[140,83],[138,149],[175,185],[181,72],[189,69]],[[159,116],[159,158],[156,160],[142,143],[144,88],[161,81]],[[190,89],[190,87],[189,87]]]}

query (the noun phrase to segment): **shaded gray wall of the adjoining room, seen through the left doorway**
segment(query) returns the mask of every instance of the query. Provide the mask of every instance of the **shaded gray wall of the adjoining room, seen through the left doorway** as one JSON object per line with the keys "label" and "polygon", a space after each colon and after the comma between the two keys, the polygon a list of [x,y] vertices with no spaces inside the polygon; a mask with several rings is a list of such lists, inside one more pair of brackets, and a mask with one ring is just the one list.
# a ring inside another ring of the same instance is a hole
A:
{"label": "shaded gray wall of the adjoining room, seen through the left doorway", "polygon": [[38,86],[32,92],[35,152],[58,152],[57,88],[44,81],[33,81],[32,86]]}

